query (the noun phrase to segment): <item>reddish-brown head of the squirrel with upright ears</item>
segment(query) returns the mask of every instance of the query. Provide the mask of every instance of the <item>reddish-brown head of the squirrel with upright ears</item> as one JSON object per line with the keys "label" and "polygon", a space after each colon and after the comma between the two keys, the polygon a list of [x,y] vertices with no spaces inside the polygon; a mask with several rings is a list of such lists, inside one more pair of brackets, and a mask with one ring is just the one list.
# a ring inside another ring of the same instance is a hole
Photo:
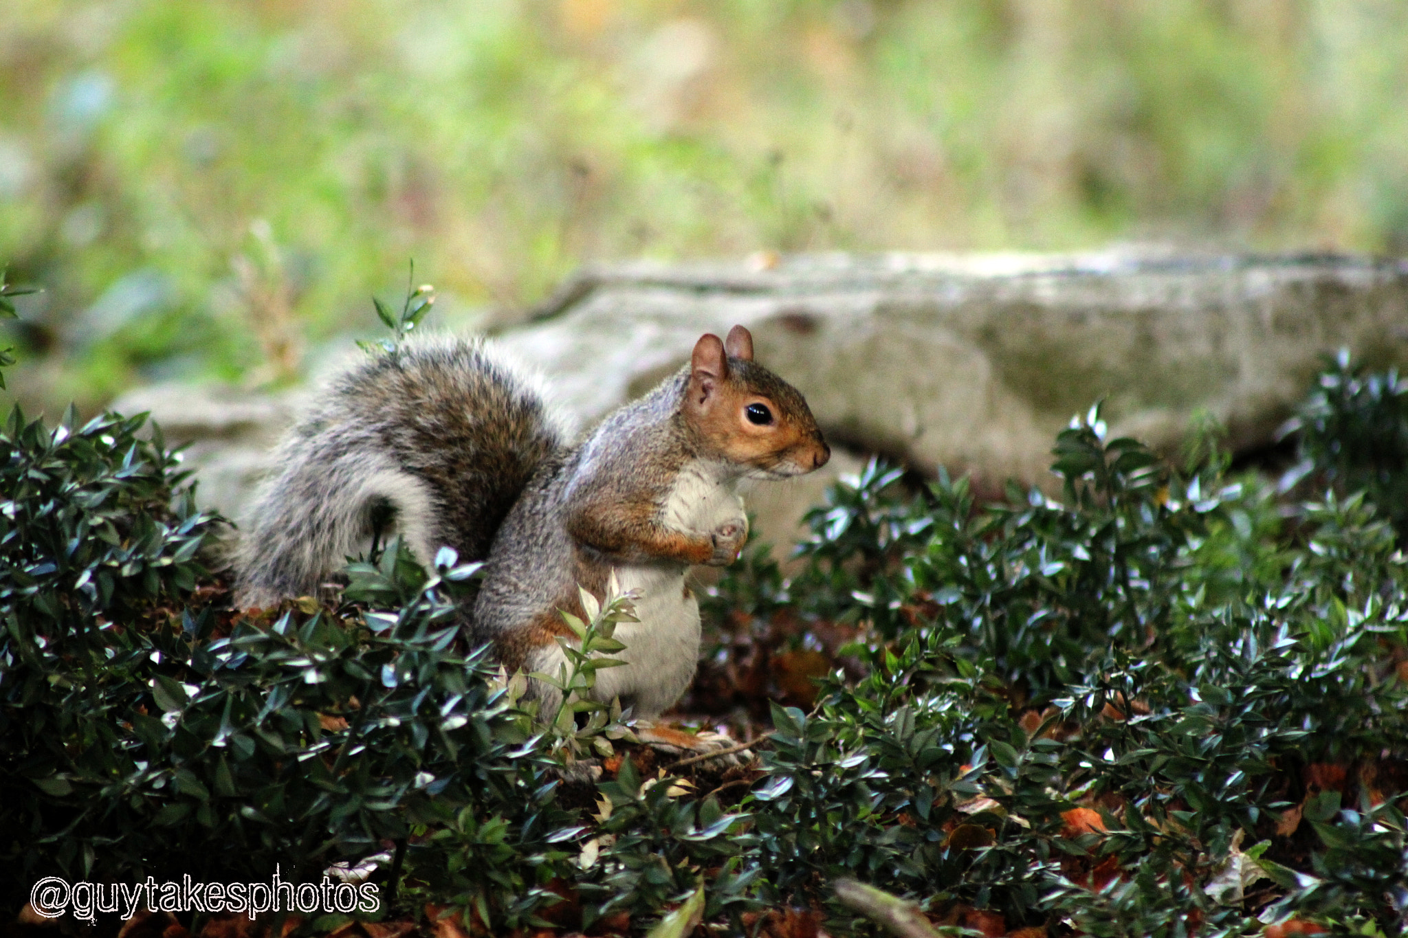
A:
{"label": "reddish-brown head of the squirrel with upright ears", "polygon": [[831,447],[797,388],[753,361],[753,336],[743,326],[719,342],[694,343],[683,415],[719,457],[758,478],[787,478],[821,468]]}

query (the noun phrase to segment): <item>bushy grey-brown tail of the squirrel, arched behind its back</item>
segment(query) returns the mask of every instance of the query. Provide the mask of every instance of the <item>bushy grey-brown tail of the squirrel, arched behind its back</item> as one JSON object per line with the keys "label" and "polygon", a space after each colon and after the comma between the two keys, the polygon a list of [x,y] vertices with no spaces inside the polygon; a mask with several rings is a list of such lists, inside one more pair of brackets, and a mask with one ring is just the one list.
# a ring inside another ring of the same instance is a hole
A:
{"label": "bushy grey-brown tail of the squirrel, arched behind its back", "polygon": [[242,525],[237,602],[315,593],[390,519],[428,564],[483,560],[562,447],[538,384],[493,346],[421,336],[337,378],[275,453]]}

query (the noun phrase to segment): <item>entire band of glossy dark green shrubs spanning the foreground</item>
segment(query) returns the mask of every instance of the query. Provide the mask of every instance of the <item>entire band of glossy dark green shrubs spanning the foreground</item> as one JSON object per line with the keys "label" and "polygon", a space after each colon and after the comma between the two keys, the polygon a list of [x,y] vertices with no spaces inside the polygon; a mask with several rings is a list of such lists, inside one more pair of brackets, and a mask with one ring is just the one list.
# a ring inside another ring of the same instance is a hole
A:
{"label": "entire band of glossy dark green shrubs spanning the foreground", "polygon": [[[705,602],[711,667],[749,636],[826,662],[728,769],[521,700],[459,645],[449,554],[389,547],[337,608],[230,609],[199,564],[217,519],[139,425],[6,430],[11,906],[42,875],[315,879],[386,851],[383,914],[472,934],[672,908],[815,930],[787,907],[872,934],[841,879],[983,934],[1402,934],[1408,561],[1363,494],[1288,501],[1217,453],[1180,471],[1098,409],[1056,440],[1060,501],[872,464],[810,515],[796,577],[753,551]],[[610,653],[628,605],[589,610]]]}

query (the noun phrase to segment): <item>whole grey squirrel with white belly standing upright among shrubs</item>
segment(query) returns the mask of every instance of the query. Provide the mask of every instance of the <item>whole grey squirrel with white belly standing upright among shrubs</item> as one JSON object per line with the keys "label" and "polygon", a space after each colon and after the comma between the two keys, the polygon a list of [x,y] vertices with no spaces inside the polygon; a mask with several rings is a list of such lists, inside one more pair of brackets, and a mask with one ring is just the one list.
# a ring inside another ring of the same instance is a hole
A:
{"label": "whole grey squirrel with white belly standing upright among shrubs", "polygon": [[[687,570],[732,563],[748,537],[736,484],[810,473],[831,449],[743,326],[701,336],[653,391],[565,437],[491,343],[408,339],[335,380],[280,443],[237,548],[237,603],[318,591],[394,516],[421,563],[441,546],[484,561],[472,644],[510,674],[556,674],[558,637],[573,636],[560,612],[583,616],[579,585],[601,599],[615,571],[639,622],[618,623],[627,664],[598,671],[590,696],[658,716],[697,664]],[[556,693],[529,681],[529,698]]]}

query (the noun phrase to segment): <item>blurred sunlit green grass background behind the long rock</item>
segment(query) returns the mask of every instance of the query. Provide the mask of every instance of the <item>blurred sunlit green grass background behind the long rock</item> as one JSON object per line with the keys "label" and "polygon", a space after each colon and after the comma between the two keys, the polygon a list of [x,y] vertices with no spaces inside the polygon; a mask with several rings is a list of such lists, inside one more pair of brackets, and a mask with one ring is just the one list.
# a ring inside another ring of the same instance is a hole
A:
{"label": "blurred sunlit green grass background behind the long rock", "polygon": [[1408,246],[1400,0],[7,0],[15,394],[259,383],[573,267]]}

